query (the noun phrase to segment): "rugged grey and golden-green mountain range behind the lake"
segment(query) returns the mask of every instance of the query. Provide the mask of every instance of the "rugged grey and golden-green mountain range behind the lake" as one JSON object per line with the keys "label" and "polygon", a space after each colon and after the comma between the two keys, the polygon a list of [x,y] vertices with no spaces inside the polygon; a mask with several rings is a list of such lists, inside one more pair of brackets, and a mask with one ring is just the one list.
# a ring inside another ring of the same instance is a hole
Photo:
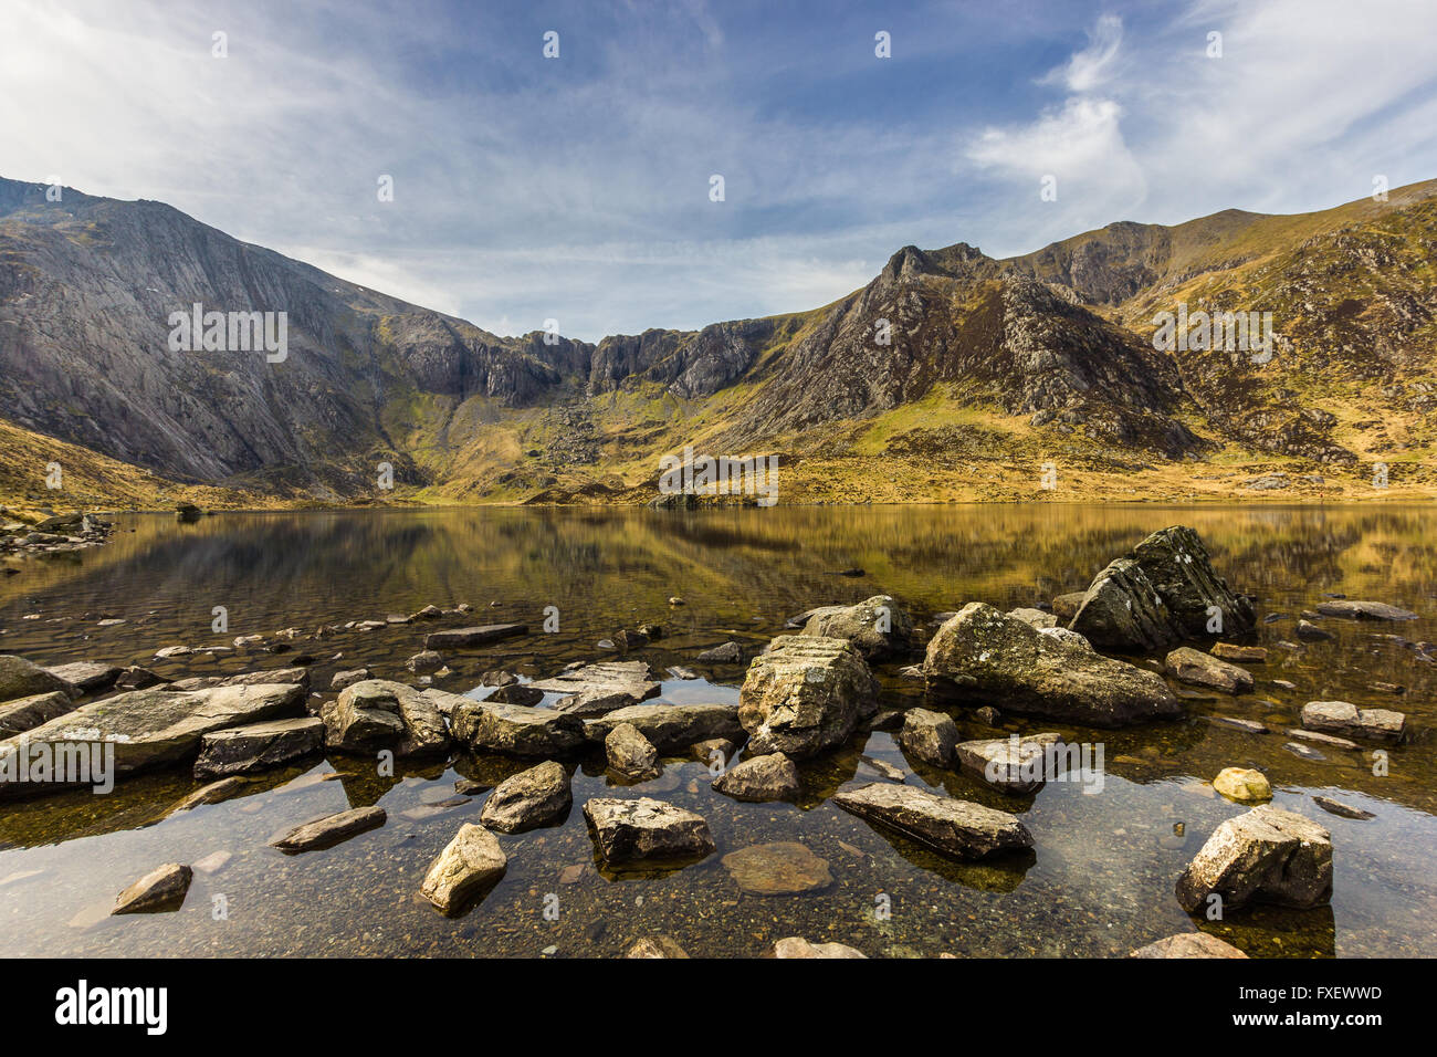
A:
{"label": "rugged grey and golden-green mountain range behind the lake", "polygon": [[[1423,492],[1434,247],[1430,181],[1006,260],[905,246],[819,309],[592,345],[500,338],[161,203],[0,180],[0,417],[177,486],[299,502],[642,500],[685,444],[779,454],[783,502],[1043,498],[1048,465],[1069,496],[1230,495],[1255,475],[1362,495],[1375,462]],[[283,361],[172,349],[194,303],[283,311]],[[1155,348],[1180,306],[1270,312],[1272,354]]]}

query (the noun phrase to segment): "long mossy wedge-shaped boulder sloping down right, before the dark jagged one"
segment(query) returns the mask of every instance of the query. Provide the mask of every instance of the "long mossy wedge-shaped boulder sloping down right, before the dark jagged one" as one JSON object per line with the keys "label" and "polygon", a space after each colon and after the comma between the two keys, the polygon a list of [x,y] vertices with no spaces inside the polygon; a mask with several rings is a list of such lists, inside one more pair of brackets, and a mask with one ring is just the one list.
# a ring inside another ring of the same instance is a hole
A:
{"label": "long mossy wedge-shaped boulder sloping down right, before the dark jagged one", "polygon": [[923,667],[928,690],[938,697],[996,700],[1004,712],[1088,726],[1170,719],[1183,710],[1158,674],[983,603],[964,605],[938,628]]}

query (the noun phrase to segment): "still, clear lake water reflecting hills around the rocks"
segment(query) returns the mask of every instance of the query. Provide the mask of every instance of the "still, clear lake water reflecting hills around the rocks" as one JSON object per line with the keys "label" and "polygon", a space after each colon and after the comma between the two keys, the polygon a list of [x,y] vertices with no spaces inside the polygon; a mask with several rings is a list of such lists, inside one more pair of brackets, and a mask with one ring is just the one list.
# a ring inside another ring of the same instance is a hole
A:
{"label": "still, clear lake water reflecting hills around the rocks", "polygon": [[[542,676],[576,660],[612,659],[598,649],[601,639],[658,623],[667,637],[629,657],[657,672],[684,664],[704,676],[665,676],[661,700],[736,702],[744,666],[700,664],[700,650],[731,639],[747,660],[795,613],[879,592],[895,595],[918,624],[969,601],[1032,605],[1085,588],[1109,559],[1173,523],[1194,526],[1219,572],[1259,597],[1259,620],[1285,618],[1260,623],[1243,640],[1270,651],[1266,664],[1249,666],[1255,690],[1191,700],[1183,720],[1119,732],[1007,720],[1004,732],[1053,729],[1102,742],[1106,775],[1098,794],[1050,782],[1035,795],[1004,797],[910,762],[878,732],[800,764],[805,792],[795,805],[729,800],[708,788],[707,768],[696,761],[670,761],[654,781],[616,785],[605,777],[602,752],[585,756],[576,761],[568,820],[502,836],[506,877],[458,919],[440,916],[417,890],[458,825],[477,821],[484,794],[441,811],[428,805],[453,798],[458,778],[497,781],[523,769],[517,761],[401,761],[391,779],[374,777],[372,761],[316,759],[266,775],[247,795],[168,818],[165,810],[198,787],[185,772],[122,782],[108,797],[0,804],[0,955],[539,956],[549,949],[614,956],[642,936],[667,933],[694,956],[759,955],[790,935],[839,941],[869,956],[1111,956],[1194,928],[1253,956],[1437,955],[1437,666],[1388,637],[1437,640],[1434,515],[1433,506],[1375,505],[1022,505],[218,513],[194,525],[119,516],[103,548],[27,561],[20,575],[0,577],[0,651],[42,664],[141,663],[175,679],[246,672],[285,667],[295,654],[151,659],[165,646],[228,644],[292,626],[310,633],[468,603],[476,607],[468,617],[299,641],[295,651],[315,656],[313,689],[325,690],[333,672],[361,666],[404,680],[404,662],[437,627],[529,624],[527,637],[448,659],[456,673],[435,685],[466,692],[490,669]],[[852,567],[865,575],[838,575]],[[1325,592],[1391,603],[1421,618],[1328,620],[1335,641],[1279,646],[1295,641],[1296,614]],[[687,604],[671,608],[670,595]],[[228,611],[223,636],[210,628],[216,605]],[[559,610],[553,634],[540,633],[549,605]],[[98,627],[103,617],[126,623]],[[335,653],[342,659],[332,660]],[[902,663],[877,667],[884,708],[921,702],[921,689],[897,676]],[[1275,679],[1296,689],[1276,687]],[[1377,680],[1407,693],[1371,690]],[[1414,735],[1391,749],[1384,777],[1372,774],[1369,752],[1323,748],[1322,761],[1299,759],[1283,749],[1286,729],[1316,699],[1404,710]],[[1003,733],[954,715],[964,738]],[[1259,719],[1272,733],[1214,725],[1217,715]],[[902,768],[921,788],[1016,811],[1035,851],[957,864],[871,828],[829,802],[845,784],[879,778],[864,756]],[[1275,804],[1332,831],[1329,907],[1259,907],[1224,922],[1190,919],[1178,907],[1178,873],[1219,823],[1246,810],[1204,785],[1224,767],[1263,769]],[[315,781],[335,769],[354,777]],[[1377,817],[1331,815],[1313,794]],[[697,811],[718,854],[661,876],[609,876],[595,869],[581,813],[593,795],[654,795]],[[338,847],[293,857],[266,847],[276,831],[375,802],[388,824]],[[796,896],[740,893],[721,857],[767,841],[808,846],[828,860],[832,886]],[[230,860],[217,873],[195,873],[181,910],[103,916],[115,893],[154,866],[217,851]],[[563,883],[566,867],[583,869],[569,870]],[[891,915],[875,913],[879,906]]]}

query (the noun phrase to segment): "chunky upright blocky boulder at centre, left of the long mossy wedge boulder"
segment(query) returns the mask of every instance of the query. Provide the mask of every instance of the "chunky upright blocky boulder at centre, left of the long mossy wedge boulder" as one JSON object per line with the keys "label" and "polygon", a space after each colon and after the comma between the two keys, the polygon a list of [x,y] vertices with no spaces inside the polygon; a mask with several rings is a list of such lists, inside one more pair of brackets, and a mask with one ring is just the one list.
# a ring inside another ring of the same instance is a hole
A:
{"label": "chunky upright blocky boulder at centre, left of the long mossy wedge boulder", "polygon": [[842,639],[775,639],[750,662],[739,692],[739,722],[759,755],[800,758],[835,748],[877,710],[878,682]]}

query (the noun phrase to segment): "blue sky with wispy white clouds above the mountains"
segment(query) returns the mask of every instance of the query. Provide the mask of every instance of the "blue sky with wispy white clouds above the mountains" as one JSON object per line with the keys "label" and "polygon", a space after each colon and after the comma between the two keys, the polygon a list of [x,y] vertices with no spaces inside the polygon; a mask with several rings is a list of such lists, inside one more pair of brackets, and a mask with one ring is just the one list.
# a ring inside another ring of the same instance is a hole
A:
{"label": "blue sky with wispy white clouds above the mountains", "polygon": [[1434,0],[4,0],[0,22],[0,175],[165,201],[500,335],[691,329],[829,303],[905,244],[1003,257],[1437,177]]}

